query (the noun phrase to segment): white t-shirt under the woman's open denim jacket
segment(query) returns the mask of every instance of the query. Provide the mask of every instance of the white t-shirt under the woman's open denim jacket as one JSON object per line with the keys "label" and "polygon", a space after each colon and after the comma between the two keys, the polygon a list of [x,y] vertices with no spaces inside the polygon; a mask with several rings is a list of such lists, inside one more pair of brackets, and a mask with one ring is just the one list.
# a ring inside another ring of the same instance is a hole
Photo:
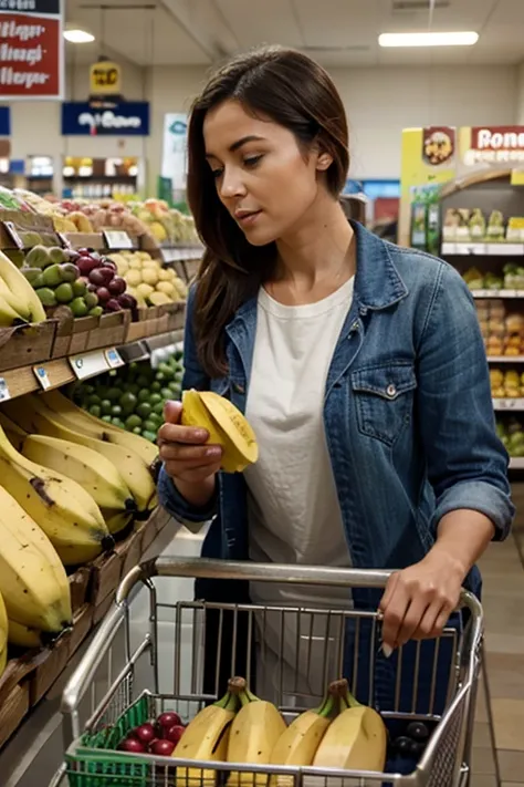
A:
{"label": "white t-shirt under the woman's open denim jacket", "polygon": [[[283,306],[260,290],[247,403],[247,417],[259,443],[259,460],[244,472],[252,560],[352,566],[325,436],[324,398],[353,288],[352,278],[322,301],[297,307]],[[251,598],[253,603],[279,607],[348,609],[352,604],[347,589],[291,583],[253,582]],[[287,617],[296,618],[291,613]],[[265,620],[263,633],[266,661],[271,651],[274,656],[274,651],[281,650],[277,640],[282,624],[280,615],[274,613],[273,618],[273,624]],[[286,661],[292,662],[294,673],[301,670],[292,652],[296,651],[296,631],[289,624],[286,620],[285,640],[291,649]],[[326,635],[325,631],[317,632],[322,648]],[[311,657],[308,650],[308,662]],[[314,661],[319,657],[318,653]],[[274,672],[274,664],[266,666],[270,674]],[[310,664],[303,667],[311,671]],[[306,685],[303,692],[310,688]]]}

